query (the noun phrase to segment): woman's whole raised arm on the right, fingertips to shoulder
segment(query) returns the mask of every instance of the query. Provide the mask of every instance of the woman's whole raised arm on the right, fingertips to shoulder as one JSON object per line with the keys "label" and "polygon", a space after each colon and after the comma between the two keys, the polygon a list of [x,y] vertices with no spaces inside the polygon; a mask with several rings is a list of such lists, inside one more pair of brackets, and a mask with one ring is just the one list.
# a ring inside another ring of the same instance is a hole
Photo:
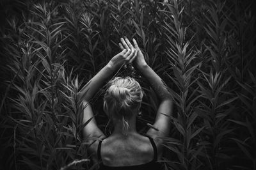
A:
{"label": "woman's whole raised arm on the right, fingertips to shoulder", "polygon": [[150,128],[147,134],[151,135],[152,137],[166,137],[170,132],[170,118],[168,118],[168,116],[172,114],[172,96],[168,92],[163,80],[156,74],[156,72],[154,72],[154,70],[152,70],[152,68],[150,68],[150,66],[147,65],[136,40],[132,39],[134,43],[133,46],[129,40],[127,40],[127,38],[121,41],[121,49],[134,48],[136,51],[138,51],[138,54],[134,59],[136,68],[140,70],[141,74],[148,80],[148,82],[150,82],[152,88],[161,100],[156,115],[156,121],[153,125],[154,128]]}

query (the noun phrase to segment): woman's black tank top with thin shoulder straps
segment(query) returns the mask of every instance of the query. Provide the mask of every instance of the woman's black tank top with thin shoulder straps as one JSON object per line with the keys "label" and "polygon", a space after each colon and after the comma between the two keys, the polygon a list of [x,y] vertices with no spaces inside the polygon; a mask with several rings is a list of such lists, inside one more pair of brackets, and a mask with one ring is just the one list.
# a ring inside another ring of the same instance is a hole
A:
{"label": "woman's black tank top with thin shoulder straps", "polygon": [[148,137],[148,139],[150,140],[150,143],[152,144],[152,147],[154,149],[154,158],[153,160],[151,160],[150,162],[147,162],[145,164],[140,164],[140,165],[136,165],[136,166],[105,166],[102,163],[102,158],[100,155],[100,148],[101,148],[101,144],[102,141],[99,142],[98,145],[98,150],[97,150],[97,155],[98,155],[98,159],[100,161],[100,168],[99,170],[150,170],[150,169],[157,169],[157,170],[161,170],[163,169],[163,165],[160,162],[157,162],[157,148],[156,148],[156,144],[154,143],[154,140],[152,139],[152,137],[145,135]]}

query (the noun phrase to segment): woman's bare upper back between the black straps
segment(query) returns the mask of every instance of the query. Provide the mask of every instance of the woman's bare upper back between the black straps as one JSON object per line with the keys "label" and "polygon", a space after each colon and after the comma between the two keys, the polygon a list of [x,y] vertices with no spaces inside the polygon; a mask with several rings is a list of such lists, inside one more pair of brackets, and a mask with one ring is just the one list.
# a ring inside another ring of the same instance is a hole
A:
{"label": "woman's bare upper back between the black straps", "polygon": [[131,135],[126,139],[110,136],[104,139],[98,153],[102,162],[109,166],[143,164],[154,158],[154,148],[144,135]]}

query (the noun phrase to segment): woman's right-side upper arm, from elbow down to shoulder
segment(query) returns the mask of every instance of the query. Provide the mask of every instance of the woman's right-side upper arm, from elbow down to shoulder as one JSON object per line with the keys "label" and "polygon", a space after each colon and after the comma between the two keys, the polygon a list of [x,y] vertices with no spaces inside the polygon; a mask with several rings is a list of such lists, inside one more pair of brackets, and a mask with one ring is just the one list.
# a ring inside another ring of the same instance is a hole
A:
{"label": "woman's right-side upper arm, from elbow down to shoulder", "polygon": [[172,115],[172,99],[166,99],[161,102],[157,110],[156,121],[153,125],[154,128],[150,128],[147,132],[152,137],[166,137],[170,132],[171,121],[169,116]]}

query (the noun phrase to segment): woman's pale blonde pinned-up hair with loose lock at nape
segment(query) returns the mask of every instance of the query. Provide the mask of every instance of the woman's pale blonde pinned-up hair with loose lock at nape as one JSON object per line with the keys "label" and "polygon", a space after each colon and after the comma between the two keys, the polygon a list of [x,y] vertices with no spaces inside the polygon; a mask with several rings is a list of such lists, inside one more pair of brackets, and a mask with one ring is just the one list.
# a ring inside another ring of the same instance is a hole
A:
{"label": "woman's pale blonde pinned-up hair with loose lock at nape", "polygon": [[135,109],[140,109],[143,91],[140,84],[131,77],[115,77],[107,84],[103,109],[109,118],[121,120],[123,134],[127,135],[129,120]]}

